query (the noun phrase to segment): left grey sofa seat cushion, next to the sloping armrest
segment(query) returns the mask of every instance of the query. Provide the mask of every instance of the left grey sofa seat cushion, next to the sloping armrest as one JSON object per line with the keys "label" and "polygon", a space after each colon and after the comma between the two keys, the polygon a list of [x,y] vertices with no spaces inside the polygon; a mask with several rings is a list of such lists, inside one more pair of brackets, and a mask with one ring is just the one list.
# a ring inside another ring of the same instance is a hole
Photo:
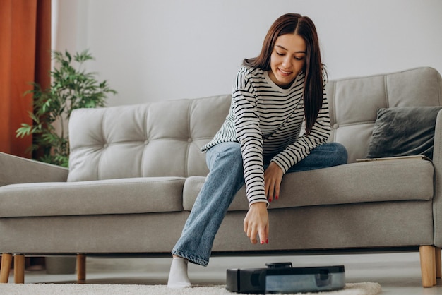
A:
{"label": "left grey sofa seat cushion, next to the sloping armrest", "polygon": [[181,211],[184,180],[149,177],[11,184],[0,187],[0,217]]}

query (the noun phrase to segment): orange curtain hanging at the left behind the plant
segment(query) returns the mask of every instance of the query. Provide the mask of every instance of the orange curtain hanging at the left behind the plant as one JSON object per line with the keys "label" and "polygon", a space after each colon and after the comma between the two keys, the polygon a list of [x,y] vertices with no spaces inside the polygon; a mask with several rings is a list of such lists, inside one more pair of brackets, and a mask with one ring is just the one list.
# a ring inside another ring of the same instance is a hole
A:
{"label": "orange curtain hanging at the left behind the plant", "polygon": [[32,124],[30,82],[47,88],[51,66],[51,0],[0,0],[0,152],[30,157],[32,138],[16,138]]}

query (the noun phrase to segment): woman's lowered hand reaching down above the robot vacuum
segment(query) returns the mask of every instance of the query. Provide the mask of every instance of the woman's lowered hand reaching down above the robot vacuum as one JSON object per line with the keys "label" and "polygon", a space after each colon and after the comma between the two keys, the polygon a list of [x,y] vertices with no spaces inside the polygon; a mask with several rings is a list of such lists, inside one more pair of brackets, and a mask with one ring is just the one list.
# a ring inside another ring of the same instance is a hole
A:
{"label": "woman's lowered hand reaching down above the robot vacuum", "polygon": [[251,243],[258,243],[256,236],[259,236],[261,244],[268,243],[268,226],[267,203],[250,205],[249,212],[244,218],[244,232],[250,238]]}

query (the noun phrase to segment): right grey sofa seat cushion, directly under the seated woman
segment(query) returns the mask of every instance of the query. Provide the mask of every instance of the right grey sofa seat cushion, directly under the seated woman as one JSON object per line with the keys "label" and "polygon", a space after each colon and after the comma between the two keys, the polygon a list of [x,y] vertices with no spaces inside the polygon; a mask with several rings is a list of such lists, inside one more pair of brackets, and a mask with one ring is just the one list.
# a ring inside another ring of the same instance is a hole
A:
{"label": "right grey sofa seat cushion, directly under the seated woman", "polygon": [[[388,159],[289,173],[281,183],[280,199],[269,209],[400,200],[431,200],[434,167],[424,159]],[[184,184],[184,210],[191,210],[205,178]],[[229,210],[248,210],[244,186]]]}

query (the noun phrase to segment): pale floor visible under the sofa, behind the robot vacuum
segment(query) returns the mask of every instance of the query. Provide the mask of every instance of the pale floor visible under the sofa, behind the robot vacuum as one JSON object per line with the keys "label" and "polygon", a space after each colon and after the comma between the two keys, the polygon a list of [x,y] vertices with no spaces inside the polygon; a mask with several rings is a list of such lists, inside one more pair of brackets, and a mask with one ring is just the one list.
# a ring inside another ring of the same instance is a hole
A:
{"label": "pale floor visible under the sofa, behind the robot vacuum", "polygon": [[[167,284],[170,258],[87,258],[88,284]],[[225,284],[228,268],[265,267],[265,263],[291,262],[298,266],[345,265],[346,282],[378,282],[383,294],[442,294],[442,280],[423,288],[419,253],[350,255],[295,255],[214,257],[208,267],[189,264],[193,284]],[[11,275],[9,282],[13,282]],[[47,275],[44,270],[25,273],[26,283],[74,283],[76,275]]]}

